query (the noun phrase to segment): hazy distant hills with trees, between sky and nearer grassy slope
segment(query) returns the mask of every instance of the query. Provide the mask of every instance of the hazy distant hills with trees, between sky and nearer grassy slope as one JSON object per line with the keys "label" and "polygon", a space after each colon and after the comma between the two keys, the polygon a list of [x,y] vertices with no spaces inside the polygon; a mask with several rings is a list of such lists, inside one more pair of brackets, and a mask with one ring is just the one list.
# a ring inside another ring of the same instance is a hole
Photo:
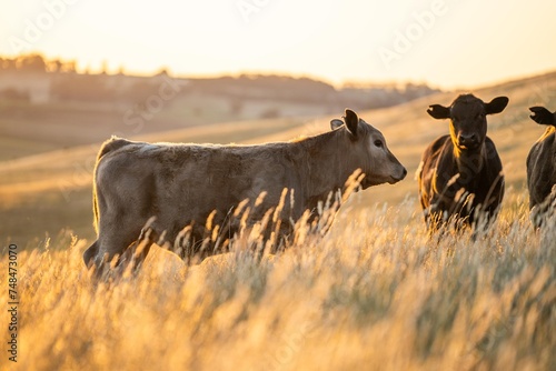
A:
{"label": "hazy distant hills with trees, between sky and nearer grassy slope", "polygon": [[[77,73],[76,62],[0,58],[0,161],[216,122],[334,114],[437,92],[401,84],[336,88],[309,78]],[[29,152],[28,152],[29,151]]]}

